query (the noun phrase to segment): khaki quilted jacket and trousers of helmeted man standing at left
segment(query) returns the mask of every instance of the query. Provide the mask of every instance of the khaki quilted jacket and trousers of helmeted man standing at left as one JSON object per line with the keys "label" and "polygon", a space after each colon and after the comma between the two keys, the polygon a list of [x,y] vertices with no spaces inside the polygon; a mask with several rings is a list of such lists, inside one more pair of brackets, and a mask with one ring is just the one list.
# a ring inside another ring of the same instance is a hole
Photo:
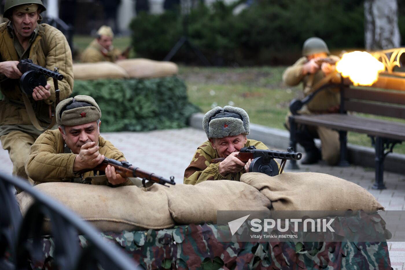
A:
{"label": "khaki quilted jacket and trousers of helmeted man standing at left", "polygon": [[[0,24],[0,58],[1,62],[30,58],[34,64],[50,70],[58,67],[59,72],[64,75],[64,79],[59,81],[60,99],[66,99],[72,93],[72,54],[68,42],[62,32],[48,24],[36,27],[26,51],[15,37],[12,25]],[[53,79],[49,77],[47,82],[51,85],[51,96],[48,99],[34,101],[32,96],[28,97],[38,122],[44,127],[51,122],[49,105],[53,105],[56,99]],[[19,79],[9,79],[0,74],[0,90],[4,95],[0,101],[0,140],[3,148],[9,151],[13,174],[27,178],[25,163],[31,145],[41,132],[32,125],[28,117]]]}

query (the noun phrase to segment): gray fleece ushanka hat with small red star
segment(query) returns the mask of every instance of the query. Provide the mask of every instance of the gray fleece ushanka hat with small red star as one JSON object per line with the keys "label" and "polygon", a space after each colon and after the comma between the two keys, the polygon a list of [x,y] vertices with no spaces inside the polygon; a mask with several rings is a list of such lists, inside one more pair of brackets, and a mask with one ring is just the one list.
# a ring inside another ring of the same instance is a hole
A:
{"label": "gray fleece ushanka hat with small red star", "polygon": [[203,129],[209,139],[247,135],[250,132],[249,116],[244,109],[238,107],[215,107],[205,114]]}

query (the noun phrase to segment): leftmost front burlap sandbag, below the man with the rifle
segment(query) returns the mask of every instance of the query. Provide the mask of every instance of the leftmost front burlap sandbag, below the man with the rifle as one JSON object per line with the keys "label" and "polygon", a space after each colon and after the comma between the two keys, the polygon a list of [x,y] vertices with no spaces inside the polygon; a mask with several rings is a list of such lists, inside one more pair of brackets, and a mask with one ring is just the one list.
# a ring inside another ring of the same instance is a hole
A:
{"label": "leftmost front burlap sandbag, below the man with the rifle", "polygon": [[[34,186],[34,189],[60,201],[100,231],[164,229],[174,226],[168,199],[162,190],[147,192],[137,186],[111,188],[63,182],[43,183]],[[32,197],[22,192],[17,195],[17,201],[21,213],[25,215],[33,203]]]}

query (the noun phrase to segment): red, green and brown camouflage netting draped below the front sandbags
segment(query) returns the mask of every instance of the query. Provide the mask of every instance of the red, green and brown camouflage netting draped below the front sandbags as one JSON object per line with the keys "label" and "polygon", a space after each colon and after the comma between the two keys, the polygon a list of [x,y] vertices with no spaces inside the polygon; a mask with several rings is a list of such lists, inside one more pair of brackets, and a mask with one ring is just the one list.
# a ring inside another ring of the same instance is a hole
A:
{"label": "red, green and brown camouflage netting draped below the front sandbags", "polygon": [[[216,235],[211,224],[102,233],[145,269],[390,269],[386,242],[218,242]],[[33,268],[51,269],[53,240],[42,241],[44,258]]]}

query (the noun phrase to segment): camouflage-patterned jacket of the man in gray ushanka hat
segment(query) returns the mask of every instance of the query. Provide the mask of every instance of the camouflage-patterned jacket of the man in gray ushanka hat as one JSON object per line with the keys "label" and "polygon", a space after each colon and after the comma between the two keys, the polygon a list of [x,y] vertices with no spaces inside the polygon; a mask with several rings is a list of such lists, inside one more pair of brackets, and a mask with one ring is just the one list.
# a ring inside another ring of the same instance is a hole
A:
{"label": "camouflage-patterned jacket of the man in gray ushanka hat", "polygon": [[[268,150],[261,141],[255,141],[247,139],[245,147],[255,146],[257,149]],[[240,181],[243,172],[236,174],[228,174],[227,176],[222,176],[219,171],[220,163],[210,163],[211,159],[217,159],[217,151],[212,147],[210,141],[206,141],[202,145],[198,146],[194,158],[192,159],[190,165],[184,171],[184,184],[198,184],[205,180],[235,180]]]}

